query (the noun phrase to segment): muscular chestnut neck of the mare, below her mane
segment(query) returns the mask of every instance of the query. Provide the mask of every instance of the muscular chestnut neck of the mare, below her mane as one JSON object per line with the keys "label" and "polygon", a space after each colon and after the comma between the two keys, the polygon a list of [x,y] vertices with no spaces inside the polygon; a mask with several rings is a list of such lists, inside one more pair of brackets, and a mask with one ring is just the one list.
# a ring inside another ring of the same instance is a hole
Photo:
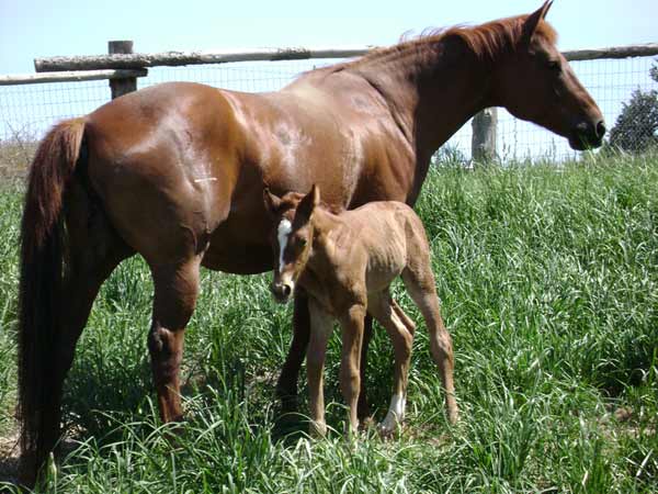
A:
{"label": "muscular chestnut neck of the mare, below her mane", "polygon": [[417,165],[492,104],[490,69],[455,36],[392,48],[354,66],[388,102]]}

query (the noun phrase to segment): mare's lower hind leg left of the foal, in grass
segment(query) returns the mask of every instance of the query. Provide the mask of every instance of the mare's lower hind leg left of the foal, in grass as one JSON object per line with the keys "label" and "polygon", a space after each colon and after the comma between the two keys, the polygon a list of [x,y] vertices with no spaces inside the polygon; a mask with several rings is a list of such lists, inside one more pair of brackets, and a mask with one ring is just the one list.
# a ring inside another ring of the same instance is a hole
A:
{"label": "mare's lower hind leg left of the foal, in grass", "polygon": [[198,295],[201,256],[182,262],[151,266],[155,282],[154,316],[148,334],[154,382],[162,422],[183,416],[179,370],[184,329]]}

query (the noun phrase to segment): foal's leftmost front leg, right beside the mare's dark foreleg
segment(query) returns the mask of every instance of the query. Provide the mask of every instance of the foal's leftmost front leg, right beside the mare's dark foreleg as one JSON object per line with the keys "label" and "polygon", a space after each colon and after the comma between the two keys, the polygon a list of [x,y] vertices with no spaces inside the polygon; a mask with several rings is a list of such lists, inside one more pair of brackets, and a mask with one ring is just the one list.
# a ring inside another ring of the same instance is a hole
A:
{"label": "foal's leftmost front leg, right beside the mare's dark foreleg", "polygon": [[309,301],[310,312],[310,341],[306,355],[306,373],[308,378],[308,393],[310,402],[310,433],[316,436],[327,434],[325,420],[325,391],[322,372],[327,343],[331,336],[332,318],[318,304]]}

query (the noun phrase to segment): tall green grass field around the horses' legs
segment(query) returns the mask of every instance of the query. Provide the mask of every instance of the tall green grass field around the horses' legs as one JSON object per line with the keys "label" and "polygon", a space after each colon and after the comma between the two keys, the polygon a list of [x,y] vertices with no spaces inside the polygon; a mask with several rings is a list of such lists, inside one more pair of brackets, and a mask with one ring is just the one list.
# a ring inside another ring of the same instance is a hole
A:
{"label": "tall green grass field around the horses' legs", "polygon": [[[21,195],[0,192],[0,427],[12,431]],[[326,440],[277,420],[290,306],[270,274],[204,272],[184,359],[189,422],[158,423],[138,258],[97,300],[65,396],[68,456],[43,492],[658,492],[658,158],[552,167],[439,167],[417,206],[454,338],[461,422],[443,415],[419,324],[399,437],[342,437],[338,338]],[[397,299],[421,323],[402,292]],[[371,403],[382,419],[393,352],[376,330]],[[306,389],[302,390],[306,396]],[[302,403],[302,412],[307,409]]]}

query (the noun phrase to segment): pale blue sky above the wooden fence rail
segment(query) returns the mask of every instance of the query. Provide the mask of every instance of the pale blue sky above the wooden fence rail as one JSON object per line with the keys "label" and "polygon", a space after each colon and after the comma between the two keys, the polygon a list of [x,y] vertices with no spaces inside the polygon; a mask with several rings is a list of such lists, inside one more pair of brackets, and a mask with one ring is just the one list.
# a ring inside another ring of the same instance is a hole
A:
{"label": "pale blue sky above the wooden fence rail", "polygon": [[[535,10],[518,1],[0,0],[0,74],[33,59],[105,53],[109,40],[137,52],[396,43],[404,33],[480,23]],[[563,49],[658,42],[657,0],[556,0],[548,20]]]}

